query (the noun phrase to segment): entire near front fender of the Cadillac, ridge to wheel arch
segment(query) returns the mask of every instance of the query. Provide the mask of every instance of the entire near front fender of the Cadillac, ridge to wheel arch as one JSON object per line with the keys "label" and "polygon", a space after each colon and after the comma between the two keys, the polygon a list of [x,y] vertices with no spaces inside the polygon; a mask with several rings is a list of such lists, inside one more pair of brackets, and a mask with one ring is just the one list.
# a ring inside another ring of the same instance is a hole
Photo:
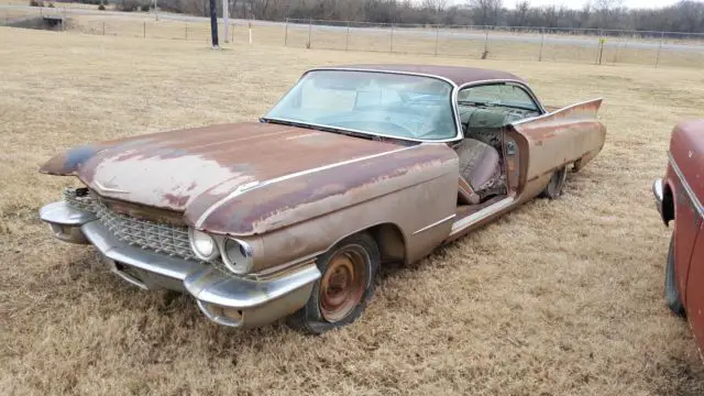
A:
{"label": "entire near front fender of the Cadillac, ridge to wheel arch", "polygon": [[450,147],[420,144],[245,190],[194,223],[211,233],[258,235],[257,272],[315,257],[380,224],[400,232],[405,261],[414,262],[449,235],[458,179],[458,157]]}

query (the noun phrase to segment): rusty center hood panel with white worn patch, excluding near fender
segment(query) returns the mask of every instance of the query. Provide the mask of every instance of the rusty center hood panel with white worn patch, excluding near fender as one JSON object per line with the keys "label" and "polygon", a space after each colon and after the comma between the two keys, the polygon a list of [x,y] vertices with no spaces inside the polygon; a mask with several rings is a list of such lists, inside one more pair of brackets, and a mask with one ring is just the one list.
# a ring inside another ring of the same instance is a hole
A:
{"label": "rusty center hood panel with white worn patch, excluding near fender", "polygon": [[237,123],[140,135],[77,147],[47,162],[102,197],[185,211],[243,187],[398,148],[330,132]]}

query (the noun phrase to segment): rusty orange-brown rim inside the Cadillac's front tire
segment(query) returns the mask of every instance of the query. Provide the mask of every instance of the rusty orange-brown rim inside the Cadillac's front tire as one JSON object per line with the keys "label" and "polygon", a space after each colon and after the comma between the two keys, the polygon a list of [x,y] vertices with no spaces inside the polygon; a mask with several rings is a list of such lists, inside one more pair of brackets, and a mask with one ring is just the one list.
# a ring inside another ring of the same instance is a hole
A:
{"label": "rusty orange-brown rim inside the Cadillac's front tire", "polygon": [[366,264],[361,246],[348,246],[330,258],[320,280],[320,314],[327,321],[344,319],[362,301]]}

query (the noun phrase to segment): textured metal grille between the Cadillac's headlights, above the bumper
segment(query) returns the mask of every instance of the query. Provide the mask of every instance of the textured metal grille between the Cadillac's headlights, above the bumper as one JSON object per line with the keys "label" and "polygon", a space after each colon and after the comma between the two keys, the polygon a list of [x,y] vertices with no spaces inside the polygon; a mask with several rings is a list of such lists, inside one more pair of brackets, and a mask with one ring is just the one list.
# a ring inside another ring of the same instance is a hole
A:
{"label": "textured metal grille between the Cadillac's headlights, above the bumper", "polygon": [[77,194],[74,189],[65,189],[63,196],[70,206],[96,213],[99,221],[122,242],[169,256],[198,260],[190,250],[186,227],[121,215],[92,196]]}

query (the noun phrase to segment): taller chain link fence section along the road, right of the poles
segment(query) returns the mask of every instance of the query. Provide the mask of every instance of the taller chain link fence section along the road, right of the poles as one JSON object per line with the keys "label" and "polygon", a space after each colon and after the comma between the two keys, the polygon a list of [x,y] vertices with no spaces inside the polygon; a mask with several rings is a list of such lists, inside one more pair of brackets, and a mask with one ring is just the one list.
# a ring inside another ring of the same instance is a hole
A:
{"label": "taller chain link fence section along the road, right of the poles", "polygon": [[284,44],[474,59],[704,67],[704,34],[286,21]]}

